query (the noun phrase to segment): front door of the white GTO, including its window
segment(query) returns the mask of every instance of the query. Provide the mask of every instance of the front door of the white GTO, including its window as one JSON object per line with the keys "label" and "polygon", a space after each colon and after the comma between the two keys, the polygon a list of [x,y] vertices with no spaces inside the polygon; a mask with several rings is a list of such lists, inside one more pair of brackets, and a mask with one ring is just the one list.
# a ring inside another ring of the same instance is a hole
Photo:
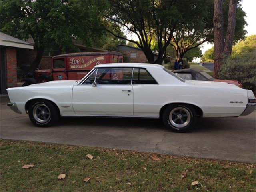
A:
{"label": "front door of the white GTO, including its window", "polygon": [[73,87],[75,114],[133,116],[131,78],[132,68],[97,68]]}

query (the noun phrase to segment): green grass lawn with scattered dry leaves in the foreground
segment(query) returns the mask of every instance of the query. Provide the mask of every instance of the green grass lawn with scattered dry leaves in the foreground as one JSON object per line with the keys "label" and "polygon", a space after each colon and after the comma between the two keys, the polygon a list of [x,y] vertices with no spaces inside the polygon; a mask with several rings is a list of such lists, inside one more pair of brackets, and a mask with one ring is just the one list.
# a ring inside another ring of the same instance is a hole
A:
{"label": "green grass lawn with scattered dry leaves in the foreground", "polygon": [[256,191],[255,164],[14,140],[0,152],[0,191]]}

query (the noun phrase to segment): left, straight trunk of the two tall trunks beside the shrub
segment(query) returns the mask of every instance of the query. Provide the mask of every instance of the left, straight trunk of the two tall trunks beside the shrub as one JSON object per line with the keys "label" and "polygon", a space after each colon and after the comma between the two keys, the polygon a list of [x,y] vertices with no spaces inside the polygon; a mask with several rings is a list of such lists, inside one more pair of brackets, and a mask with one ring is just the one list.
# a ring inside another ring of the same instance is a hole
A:
{"label": "left, straight trunk of the two tall trunks beside the shrub", "polygon": [[214,0],[214,77],[217,78],[220,66],[224,58],[224,37],[223,37],[223,0]]}

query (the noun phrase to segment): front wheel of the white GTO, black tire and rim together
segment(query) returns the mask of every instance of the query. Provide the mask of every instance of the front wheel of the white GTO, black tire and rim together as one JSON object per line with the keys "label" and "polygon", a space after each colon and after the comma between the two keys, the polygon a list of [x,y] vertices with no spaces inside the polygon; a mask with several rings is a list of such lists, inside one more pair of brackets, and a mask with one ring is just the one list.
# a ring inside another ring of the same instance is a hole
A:
{"label": "front wheel of the white GTO, black tire and rim together", "polygon": [[[42,113],[44,111],[44,113]],[[48,100],[35,100],[28,108],[30,121],[38,127],[49,127],[55,124],[59,117],[58,108]]]}

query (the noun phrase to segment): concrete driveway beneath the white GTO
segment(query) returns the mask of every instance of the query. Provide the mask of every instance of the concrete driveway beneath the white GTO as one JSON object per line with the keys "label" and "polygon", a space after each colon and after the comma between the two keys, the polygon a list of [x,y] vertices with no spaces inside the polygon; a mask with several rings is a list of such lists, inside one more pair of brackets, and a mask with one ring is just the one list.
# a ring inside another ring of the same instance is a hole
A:
{"label": "concrete driveway beneath the white GTO", "polygon": [[240,162],[255,162],[256,112],[238,118],[201,118],[194,130],[178,134],[160,120],[61,118],[50,128],[32,125],[1,96],[0,138],[155,152]]}

